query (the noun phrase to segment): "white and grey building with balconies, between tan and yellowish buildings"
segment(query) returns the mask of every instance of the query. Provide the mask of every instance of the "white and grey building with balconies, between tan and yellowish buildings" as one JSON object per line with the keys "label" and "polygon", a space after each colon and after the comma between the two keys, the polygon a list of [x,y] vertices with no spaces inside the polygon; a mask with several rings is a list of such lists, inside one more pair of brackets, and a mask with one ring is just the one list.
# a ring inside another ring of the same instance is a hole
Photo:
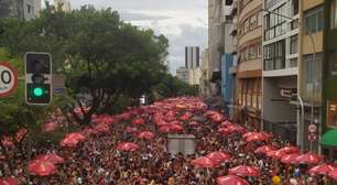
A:
{"label": "white and grey building with balconies, between tan and yellowish buildings", "polygon": [[297,142],[298,129],[294,104],[298,80],[298,0],[265,0],[263,7],[263,129],[293,144]]}

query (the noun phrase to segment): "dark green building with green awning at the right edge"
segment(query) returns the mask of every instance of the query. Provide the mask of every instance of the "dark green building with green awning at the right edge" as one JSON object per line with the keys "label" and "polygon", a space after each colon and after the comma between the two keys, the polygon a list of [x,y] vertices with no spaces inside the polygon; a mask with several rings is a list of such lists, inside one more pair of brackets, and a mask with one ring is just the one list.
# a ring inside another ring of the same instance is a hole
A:
{"label": "dark green building with green awning at the right edge", "polygon": [[325,156],[337,159],[337,1],[325,1],[323,105],[320,146]]}

